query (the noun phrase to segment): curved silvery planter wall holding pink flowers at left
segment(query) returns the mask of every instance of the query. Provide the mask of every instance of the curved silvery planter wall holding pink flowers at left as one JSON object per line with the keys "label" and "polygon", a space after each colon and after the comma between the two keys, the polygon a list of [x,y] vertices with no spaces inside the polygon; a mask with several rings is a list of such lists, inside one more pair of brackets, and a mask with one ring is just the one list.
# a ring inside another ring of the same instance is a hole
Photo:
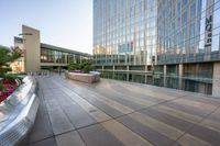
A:
{"label": "curved silvery planter wall holding pink flowers at left", "polygon": [[25,77],[23,82],[0,103],[0,146],[18,144],[34,124],[40,103],[36,80]]}

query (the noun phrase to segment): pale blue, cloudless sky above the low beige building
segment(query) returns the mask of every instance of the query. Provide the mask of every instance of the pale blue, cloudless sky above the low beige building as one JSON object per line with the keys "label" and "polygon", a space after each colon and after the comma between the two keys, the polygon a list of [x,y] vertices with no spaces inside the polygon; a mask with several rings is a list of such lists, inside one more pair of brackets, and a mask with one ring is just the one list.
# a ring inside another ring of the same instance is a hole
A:
{"label": "pale blue, cloudless sky above the low beige building", "polygon": [[0,45],[13,46],[22,24],[42,43],[92,53],[92,0],[0,0]]}

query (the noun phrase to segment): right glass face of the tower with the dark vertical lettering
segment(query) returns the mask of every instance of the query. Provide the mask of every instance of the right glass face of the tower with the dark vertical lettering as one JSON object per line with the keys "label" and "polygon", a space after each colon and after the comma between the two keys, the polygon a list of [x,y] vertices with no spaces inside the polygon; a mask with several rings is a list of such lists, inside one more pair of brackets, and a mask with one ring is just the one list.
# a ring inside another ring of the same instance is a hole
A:
{"label": "right glass face of the tower with the dark vertical lettering", "polygon": [[158,0],[157,64],[219,60],[219,0]]}

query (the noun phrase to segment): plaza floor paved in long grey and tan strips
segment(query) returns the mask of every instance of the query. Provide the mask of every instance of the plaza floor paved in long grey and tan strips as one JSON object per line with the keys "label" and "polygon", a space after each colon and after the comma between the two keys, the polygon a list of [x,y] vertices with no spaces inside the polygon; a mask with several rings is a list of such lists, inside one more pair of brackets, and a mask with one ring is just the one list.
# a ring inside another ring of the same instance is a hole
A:
{"label": "plaza floor paved in long grey and tan strips", "polygon": [[116,80],[38,77],[31,146],[220,146],[220,100]]}

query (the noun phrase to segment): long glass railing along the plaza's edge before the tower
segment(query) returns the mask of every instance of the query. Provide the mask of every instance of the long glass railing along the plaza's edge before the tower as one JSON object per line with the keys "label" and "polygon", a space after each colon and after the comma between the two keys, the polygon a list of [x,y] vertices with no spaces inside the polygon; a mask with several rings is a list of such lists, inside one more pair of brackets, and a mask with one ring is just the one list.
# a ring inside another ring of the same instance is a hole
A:
{"label": "long glass railing along the plaza's edge before the tower", "polygon": [[[178,75],[167,75],[164,76],[162,72],[153,72],[153,71],[122,71],[122,70],[99,70],[101,72],[101,78],[107,79],[117,79],[123,81],[131,81],[131,82],[139,82],[145,85],[153,85],[166,88],[174,88],[179,90],[187,90],[194,92],[200,92],[198,90],[198,85],[207,86],[206,94],[211,94],[212,82],[217,81],[218,79],[212,79],[208,77],[187,77],[183,76],[179,77]],[[195,90],[190,89],[190,86],[194,86]]]}

